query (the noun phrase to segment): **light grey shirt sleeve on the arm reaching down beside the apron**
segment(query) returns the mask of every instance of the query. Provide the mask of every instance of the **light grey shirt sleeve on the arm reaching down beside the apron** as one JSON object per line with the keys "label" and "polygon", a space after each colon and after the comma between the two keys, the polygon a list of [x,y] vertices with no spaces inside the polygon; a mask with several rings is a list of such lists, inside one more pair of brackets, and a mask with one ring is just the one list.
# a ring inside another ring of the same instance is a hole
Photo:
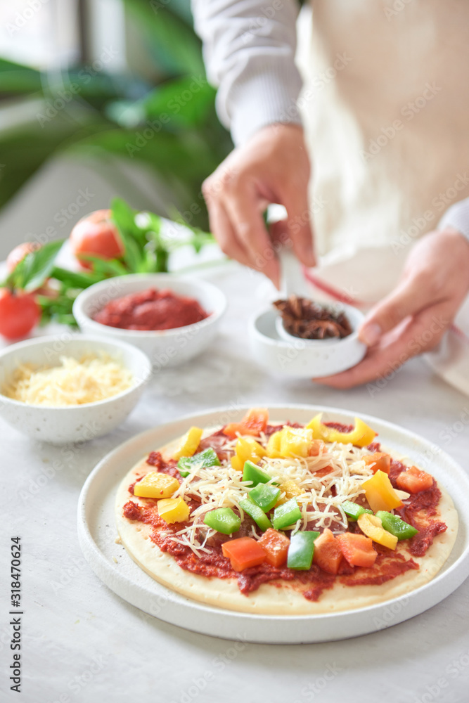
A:
{"label": "light grey shirt sleeve on the arm reaching down beside the apron", "polygon": [[301,122],[296,0],[192,0],[217,112],[236,145],[274,122]]}

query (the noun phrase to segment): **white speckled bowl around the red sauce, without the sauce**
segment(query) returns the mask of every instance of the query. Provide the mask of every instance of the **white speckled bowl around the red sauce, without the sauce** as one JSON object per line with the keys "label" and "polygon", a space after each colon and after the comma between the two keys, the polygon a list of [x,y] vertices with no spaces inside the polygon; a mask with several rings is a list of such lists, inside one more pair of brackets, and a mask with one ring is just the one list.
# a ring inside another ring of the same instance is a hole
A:
{"label": "white speckled bowl around the red sauce, without the sauce", "polygon": [[[93,316],[111,300],[147,288],[169,288],[176,295],[195,298],[210,315],[194,325],[149,332],[121,330],[93,320]],[[214,340],[225,310],[226,297],[212,283],[172,273],[131,273],[108,278],[90,285],[73,304],[73,314],[82,332],[135,344],[148,354],[154,371],[179,366],[203,352]]]}

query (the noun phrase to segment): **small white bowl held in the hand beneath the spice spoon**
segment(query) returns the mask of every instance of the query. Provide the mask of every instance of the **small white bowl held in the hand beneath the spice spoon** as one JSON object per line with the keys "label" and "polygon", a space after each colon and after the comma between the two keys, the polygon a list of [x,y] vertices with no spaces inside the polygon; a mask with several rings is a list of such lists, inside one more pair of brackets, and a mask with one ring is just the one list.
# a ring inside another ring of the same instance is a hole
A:
{"label": "small white bowl held in the hand beneath the spice spoon", "polygon": [[[330,306],[329,306],[330,307]],[[271,371],[296,378],[320,378],[352,368],[366,354],[358,338],[364,315],[356,308],[334,304],[349,319],[352,334],[343,339],[302,340],[283,327],[281,315],[270,308],[252,318],[250,342],[256,360]]]}

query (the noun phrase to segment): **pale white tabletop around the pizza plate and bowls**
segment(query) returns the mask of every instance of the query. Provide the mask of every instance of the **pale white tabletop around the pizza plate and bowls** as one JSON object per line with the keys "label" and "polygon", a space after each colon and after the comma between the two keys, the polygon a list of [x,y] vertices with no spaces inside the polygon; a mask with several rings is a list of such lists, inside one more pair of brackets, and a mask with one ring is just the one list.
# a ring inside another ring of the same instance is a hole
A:
{"label": "pale white tabletop around the pizza plate and bowls", "polygon": [[[377,415],[440,444],[467,467],[469,399],[422,359],[382,389],[335,391],[278,378],[250,358],[246,319],[267,287],[230,264],[205,278],[229,296],[210,352],[157,375],[121,427],[73,451],[0,421],[1,701],[24,703],[456,703],[468,699],[469,581],[436,607],[375,634],[319,645],[252,645],[195,634],[128,605],[98,580],[77,542],[89,472],[134,434],[214,406],[315,403]],[[465,413],[468,413],[466,415]],[[467,419],[466,419],[467,422]],[[456,423],[456,424],[455,424]],[[10,542],[23,543],[23,687],[9,690]]]}

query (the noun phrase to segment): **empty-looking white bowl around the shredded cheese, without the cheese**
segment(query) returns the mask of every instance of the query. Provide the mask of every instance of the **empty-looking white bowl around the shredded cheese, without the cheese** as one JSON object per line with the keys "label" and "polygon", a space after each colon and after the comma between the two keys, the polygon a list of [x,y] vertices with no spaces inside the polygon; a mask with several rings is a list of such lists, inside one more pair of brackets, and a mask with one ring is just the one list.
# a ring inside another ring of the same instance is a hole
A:
{"label": "empty-looking white bowl around the shredded cheese, without the cheese", "polygon": [[[134,384],[122,393],[96,403],[77,406],[29,405],[1,394],[8,377],[22,363],[58,366],[60,356],[81,359],[84,354],[105,352],[134,375]],[[151,375],[146,354],[131,344],[103,337],[64,333],[19,342],[0,352],[0,415],[18,432],[50,444],[88,441],[107,434],[133,410]]]}

